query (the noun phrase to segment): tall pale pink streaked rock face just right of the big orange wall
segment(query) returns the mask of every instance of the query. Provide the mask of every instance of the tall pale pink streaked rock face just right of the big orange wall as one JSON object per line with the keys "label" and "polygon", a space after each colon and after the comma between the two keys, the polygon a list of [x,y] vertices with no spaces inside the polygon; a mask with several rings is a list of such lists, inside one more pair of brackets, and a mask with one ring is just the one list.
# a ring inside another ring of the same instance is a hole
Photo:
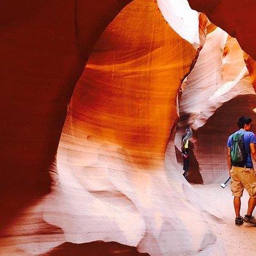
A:
{"label": "tall pale pink streaked rock face just right of the big orange wall", "polygon": [[[222,86],[221,67],[226,40],[227,33],[220,28],[207,35],[196,65],[186,78],[186,85],[183,85],[186,86],[186,89],[180,99],[180,122],[178,127],[184,129],[186,125],[192,125],[209,98]],[[188,115],[190,115],[189,120]]]}

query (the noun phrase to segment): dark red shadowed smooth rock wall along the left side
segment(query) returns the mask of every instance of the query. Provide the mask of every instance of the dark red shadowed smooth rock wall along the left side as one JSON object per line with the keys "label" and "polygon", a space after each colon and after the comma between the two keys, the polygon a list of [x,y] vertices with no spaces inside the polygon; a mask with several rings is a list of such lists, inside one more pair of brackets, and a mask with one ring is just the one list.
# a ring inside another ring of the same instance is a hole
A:
{"label": "dark red shadowed smooth rock wall along the left side", "polygon": [[0,227],[33,196],[49,191],[48,171],[55,168],[74,86],[100,33],[127,3],[1,4]]}

